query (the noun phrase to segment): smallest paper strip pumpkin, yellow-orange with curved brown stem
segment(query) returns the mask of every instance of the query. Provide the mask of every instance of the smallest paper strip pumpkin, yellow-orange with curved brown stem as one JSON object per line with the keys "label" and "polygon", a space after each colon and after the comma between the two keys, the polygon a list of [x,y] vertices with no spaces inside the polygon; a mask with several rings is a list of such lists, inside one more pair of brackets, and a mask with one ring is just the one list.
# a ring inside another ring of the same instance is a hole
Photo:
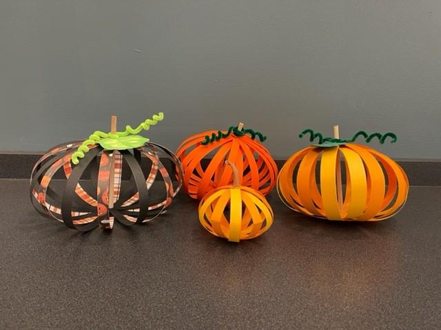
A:
{"label": "smallest paper strip pumpkin, yellow-orange with curved brown stem", "polygon": [[240,186],[238,168],[232,162],[233,185],[212,190],[199,203],[199,221],[206,230],[231,242],[254,239],[266,232],[274,214],[265,197]]}

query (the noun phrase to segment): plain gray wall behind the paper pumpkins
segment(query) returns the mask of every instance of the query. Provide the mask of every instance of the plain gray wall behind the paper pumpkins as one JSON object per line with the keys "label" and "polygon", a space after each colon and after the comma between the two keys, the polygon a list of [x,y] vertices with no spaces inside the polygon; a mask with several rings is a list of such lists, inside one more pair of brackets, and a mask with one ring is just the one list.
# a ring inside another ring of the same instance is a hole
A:
{"label": "plain gray wall behind the paper pumpkins", "polygon": [[2,0],[0,50],[2,151],[165,111],[148,135],[172,149],[241,120],[280,158],[338,123],[441,158],[439,0]]}

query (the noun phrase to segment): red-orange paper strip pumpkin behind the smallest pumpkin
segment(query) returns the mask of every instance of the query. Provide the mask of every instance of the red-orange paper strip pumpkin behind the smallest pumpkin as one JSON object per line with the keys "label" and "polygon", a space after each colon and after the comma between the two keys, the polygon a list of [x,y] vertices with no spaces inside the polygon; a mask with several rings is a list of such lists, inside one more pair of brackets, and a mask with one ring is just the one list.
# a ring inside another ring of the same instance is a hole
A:
{"label": "red-orange paper strip pumpkin behind the smallest pumpkin", "polygon": [[[266,195],[276,184],[277,166],[256,138],[260,142],[266,140],[262,133],[244,129],[242,123],[227,131],[206,131],[188,137],[176,152],[183,165],[184,190],[191,197],[201,199],[210,190],[232,184],[232,170],[225,167],[228,160],[236,164],[243,186]],[[212,159],[207,159],[208,164],[203,166],[203,159],[209,157]]]}

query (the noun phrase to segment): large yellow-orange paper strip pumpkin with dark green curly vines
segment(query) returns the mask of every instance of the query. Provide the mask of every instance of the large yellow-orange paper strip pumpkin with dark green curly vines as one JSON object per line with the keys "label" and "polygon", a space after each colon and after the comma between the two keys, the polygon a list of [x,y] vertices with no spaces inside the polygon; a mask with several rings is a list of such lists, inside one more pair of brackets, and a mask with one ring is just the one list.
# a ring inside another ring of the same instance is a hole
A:
{"label": "large yellow-orange paper strip pumpkin with dark green curly vines", "polygon": [[340,140],[335,126],[334,137],[324,138],[311,129],[300,137],[308,133],[311,142],[318,138],[318,144],[291,155],[278,175],[278,194],[289,208],[313,217],[350,221],[378,221],[400,211],[409,191],[404,170],[373,148],[353,143],[360,136],[368,143],[376,137],[381,144],[390,137],[393,143],[395,134],[360,131],[350,140]]}

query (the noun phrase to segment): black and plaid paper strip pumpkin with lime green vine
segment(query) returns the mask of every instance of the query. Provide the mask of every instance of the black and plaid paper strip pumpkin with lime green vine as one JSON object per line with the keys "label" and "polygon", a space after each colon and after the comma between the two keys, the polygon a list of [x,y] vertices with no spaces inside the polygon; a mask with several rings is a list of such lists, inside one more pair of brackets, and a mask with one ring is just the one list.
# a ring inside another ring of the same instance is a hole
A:
{"label": "black and plaid paper strip pumpkin with lime green vine", "polygon": [[[97,226],[112,229],[114,219],[133,225],[158,217],[181,188],[181,163],[167,148],[137,134],[163,118],[158,113],[135,129],[127,125],[125,131],[116,132],[116,117],[112,116],[110,133],[96,131],[84,142],[51,148],[32,170],[34,208],[81,231]],[[160,157],[172,161],[177,181],[172,181]],[[121,179],[123,165],[130,171],[129,180]],[[148,173],[147,179],[143,171]],[[54,180],[57,173],[65,180]],[[155,180],[158,183],[153,186]]]}

